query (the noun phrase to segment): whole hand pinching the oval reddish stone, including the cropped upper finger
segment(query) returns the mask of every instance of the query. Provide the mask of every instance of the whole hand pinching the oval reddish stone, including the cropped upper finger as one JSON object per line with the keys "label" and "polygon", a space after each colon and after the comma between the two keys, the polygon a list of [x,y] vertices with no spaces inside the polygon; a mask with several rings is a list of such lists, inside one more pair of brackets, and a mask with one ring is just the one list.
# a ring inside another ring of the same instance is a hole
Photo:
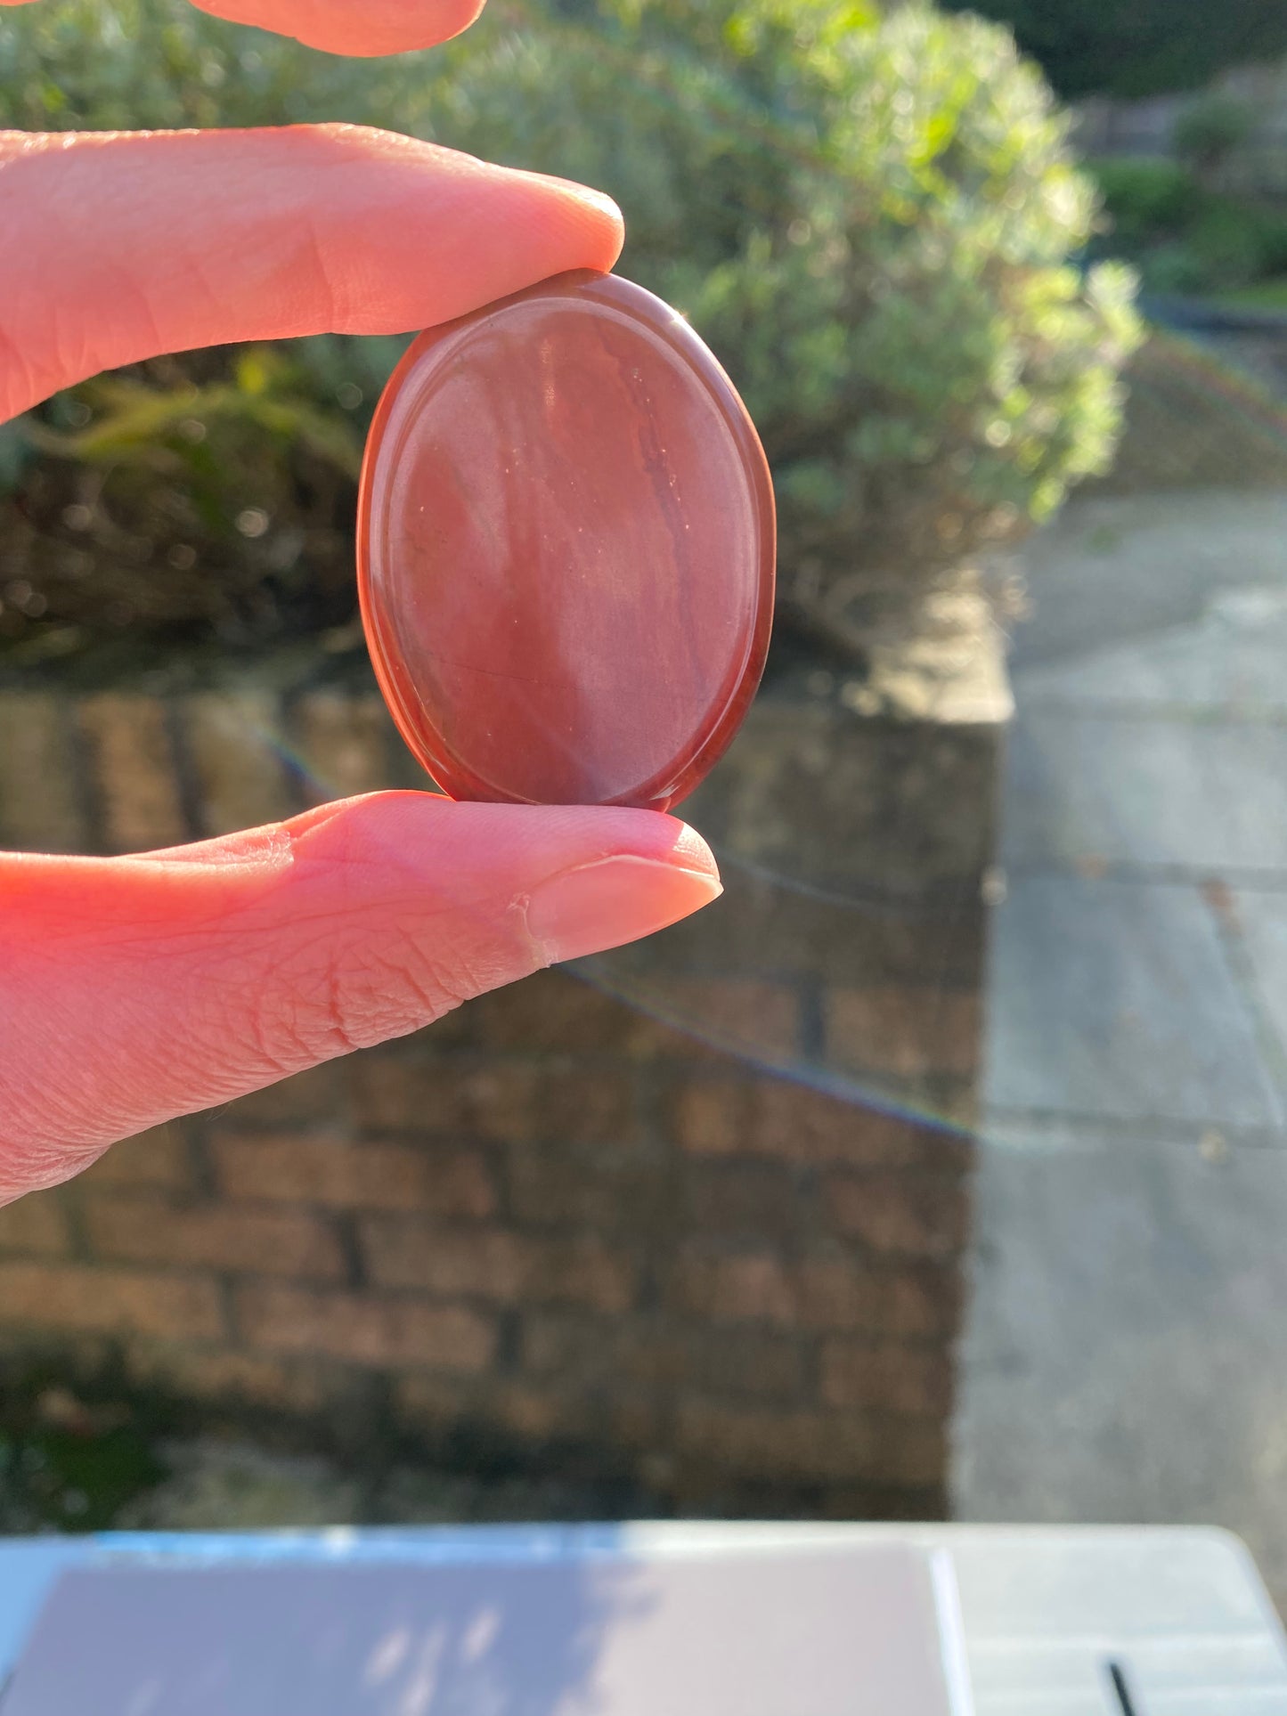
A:
{"label": "whole hand pinching the oval reddish stone, including the cropped upper finger", "polygon": [[[480,10],[197,3],[347,53],[427,46]],[[160,352],[410,331],[607,269],[621,220],[577,185],[343,125],[0,132],[0,233],[3,420]],[[671,817],[419,793],[144,856],[0,855],[0,1203],[717,894]]]}

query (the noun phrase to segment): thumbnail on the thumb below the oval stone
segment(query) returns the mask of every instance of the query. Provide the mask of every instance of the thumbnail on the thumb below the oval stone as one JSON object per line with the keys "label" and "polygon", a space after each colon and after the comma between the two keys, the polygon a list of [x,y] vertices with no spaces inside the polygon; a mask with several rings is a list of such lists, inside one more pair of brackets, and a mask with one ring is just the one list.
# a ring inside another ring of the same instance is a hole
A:
{"label": "thumbnail on the thumb below the oval stone", "polygon": [[719,879],[652,858],[602,858],[537,884],[529,934],[551,964],[638,940],[719,899]]}

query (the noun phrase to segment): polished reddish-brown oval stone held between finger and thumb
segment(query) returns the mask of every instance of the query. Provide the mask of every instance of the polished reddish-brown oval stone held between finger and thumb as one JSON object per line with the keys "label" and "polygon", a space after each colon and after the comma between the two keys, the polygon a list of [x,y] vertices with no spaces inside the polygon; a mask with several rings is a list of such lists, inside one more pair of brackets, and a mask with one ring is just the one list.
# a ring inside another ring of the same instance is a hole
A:
{"label": "polished reddish-brown oval stone held between finger and thumb", "polygon": [[384,698],[443,791],[666,810],[764,668],[764,450],[683,317],[561,275],[407,352],[371,426],[359,590]]}

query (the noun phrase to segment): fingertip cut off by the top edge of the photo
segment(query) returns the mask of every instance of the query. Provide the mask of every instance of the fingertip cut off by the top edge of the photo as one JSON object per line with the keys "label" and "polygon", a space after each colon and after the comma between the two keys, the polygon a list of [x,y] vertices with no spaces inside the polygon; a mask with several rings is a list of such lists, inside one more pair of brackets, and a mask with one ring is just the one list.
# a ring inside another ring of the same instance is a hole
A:
{"label": "fingertip cut off by the top edge of the photo", "polygon": [[[27,5],[31,0],[0,0]],[[326,53],[376,55],[432,48],[468,29],[486,0],[192,0],[230,24],[293,36]]]}

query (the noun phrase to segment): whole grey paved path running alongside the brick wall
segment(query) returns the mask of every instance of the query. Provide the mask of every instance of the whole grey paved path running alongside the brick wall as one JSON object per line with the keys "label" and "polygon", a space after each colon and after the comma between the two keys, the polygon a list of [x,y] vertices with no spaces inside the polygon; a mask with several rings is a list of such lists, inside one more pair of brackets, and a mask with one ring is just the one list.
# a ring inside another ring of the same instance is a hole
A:
{"label": "whole grey paved path running alongside the brick wall", "polygon": [[956,1505],[1224,1524],[1287,1606],[1287,494],[1028,568]]}

